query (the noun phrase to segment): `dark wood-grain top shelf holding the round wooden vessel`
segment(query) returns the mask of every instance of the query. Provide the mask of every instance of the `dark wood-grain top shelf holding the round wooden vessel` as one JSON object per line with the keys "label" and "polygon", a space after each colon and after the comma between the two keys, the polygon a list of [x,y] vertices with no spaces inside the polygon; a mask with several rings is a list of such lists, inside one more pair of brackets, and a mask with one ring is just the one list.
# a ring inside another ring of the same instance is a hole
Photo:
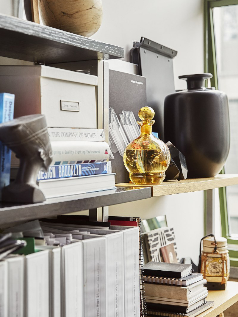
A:
{"label": "dark wood-grain top shelf holding the round wooden vessel", "polygon": [[123,58],[124,49],[0,14],[0,56],[41,64]]}

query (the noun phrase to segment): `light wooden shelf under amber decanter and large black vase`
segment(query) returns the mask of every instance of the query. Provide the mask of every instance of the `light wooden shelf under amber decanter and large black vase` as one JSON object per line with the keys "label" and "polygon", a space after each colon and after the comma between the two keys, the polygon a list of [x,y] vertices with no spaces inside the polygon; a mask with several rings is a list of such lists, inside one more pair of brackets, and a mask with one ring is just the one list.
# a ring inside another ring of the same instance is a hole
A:
{"label": "light wooden shelf under amber decanter and large black vase", "polygon": [[[151,187],[151,196],[164,196],[188,193],[191,191],[204,191],[208,189],[238,184],[238,174],[219,174],[211,178],[192,178],[180,181],[167,181],[159,185],[137,185],[135,187]],[[130,183],[116,184],[116,186],[131,186]]]}

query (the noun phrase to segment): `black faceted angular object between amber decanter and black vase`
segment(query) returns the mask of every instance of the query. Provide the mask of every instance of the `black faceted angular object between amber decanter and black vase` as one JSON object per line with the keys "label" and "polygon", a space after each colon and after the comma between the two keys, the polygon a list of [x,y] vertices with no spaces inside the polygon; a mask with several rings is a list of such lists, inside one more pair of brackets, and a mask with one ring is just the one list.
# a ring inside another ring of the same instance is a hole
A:
{"label": "black faceted angular object between amber decanter and black vase", "polygon": [[172,179],[186,179],[188,169],[185,156],[171,142],[167,142],[166,145],[169,148],[171,160],[169,167],[165,172],[165,181]]}

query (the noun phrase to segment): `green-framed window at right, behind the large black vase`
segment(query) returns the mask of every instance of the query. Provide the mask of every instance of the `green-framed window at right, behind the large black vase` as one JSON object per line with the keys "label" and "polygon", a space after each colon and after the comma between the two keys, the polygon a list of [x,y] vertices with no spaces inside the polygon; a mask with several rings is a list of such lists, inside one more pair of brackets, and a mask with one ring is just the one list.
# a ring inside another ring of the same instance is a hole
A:
{"label": "green-framed window at right, behind the large black vase", "polygon": [[[205,0],[205,72],[228,95],[231,147],[224,173],[238,173],[238,0]],[[232,266],[238,266],[238,185],[219,189],[222,235]]]}

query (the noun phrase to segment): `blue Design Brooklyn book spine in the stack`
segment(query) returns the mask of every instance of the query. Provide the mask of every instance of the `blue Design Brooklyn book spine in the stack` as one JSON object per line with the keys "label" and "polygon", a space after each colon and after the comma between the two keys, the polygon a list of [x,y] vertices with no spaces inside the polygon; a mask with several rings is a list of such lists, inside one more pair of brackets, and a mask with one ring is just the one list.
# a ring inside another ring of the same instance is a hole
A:
{"label": "blue Design Brooklyn book spine in the stack", "polygon": [[108,173],[111,173],[111,162],[50,165],[46,173],[39,171],[37,181]]}

